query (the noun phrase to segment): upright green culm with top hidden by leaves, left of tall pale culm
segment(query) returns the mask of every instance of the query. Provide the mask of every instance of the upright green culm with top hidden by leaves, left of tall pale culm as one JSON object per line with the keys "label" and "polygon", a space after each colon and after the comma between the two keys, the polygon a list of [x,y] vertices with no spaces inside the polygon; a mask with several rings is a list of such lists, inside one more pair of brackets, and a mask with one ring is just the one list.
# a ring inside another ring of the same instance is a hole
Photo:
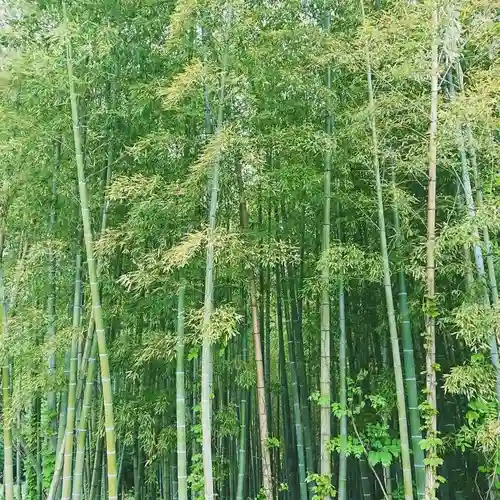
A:
{"label": "upright green culm with top hidden by leaves, left of tall pale culm", "polygon": [[177,481],[179,500],[187,500],[187,452],[186,452],[186,386],[184,372],[184,295],[186,282],[181,281],[177,306],[177,367],[176,414],[177,414]]}

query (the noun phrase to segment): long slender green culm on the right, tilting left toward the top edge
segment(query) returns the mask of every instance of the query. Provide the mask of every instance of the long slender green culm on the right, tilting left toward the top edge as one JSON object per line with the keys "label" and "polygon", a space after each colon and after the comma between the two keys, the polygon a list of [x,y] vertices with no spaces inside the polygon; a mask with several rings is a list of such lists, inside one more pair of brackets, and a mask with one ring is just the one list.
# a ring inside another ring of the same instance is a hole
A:
{"label": "long slender green culm on the right, tilting left toward the top edge", "polygon": [[[361,0],[361,14],[364,22],[364,5]],[[405,500],[413,500],[413,484],[411,473],[410,446],[408,440],[408,419],[406,417],[405,388],[403,381],[403,369],[401,366],[401,354],[399,352],[399,338],[394,310],[394,299],[392,296],[391,271],[389,267],[389,253],[387,249],[387,235],[385,230],[384,200],[382,193],[382,180],[380,176],[380,160],[378,151],[378,136],[375,123],[375,99],[372,81],[372,69],[370,62],[370,50],[365,45],[366,78],[368,86],[368,110],[369,121],[372,132],[373,167],[375,171],[375,187],[377,192],[377,212],[380,233],[380,249],[382,254],[382,266],[384,272],[384,290],[387,307],[387,320],[389,322],[389,333],[391,338],[392,358],[394,365],[394,378],[396,382],[396,403],[398,410],[399,437],[401,441],[401,462],[403,469],[403,486]]]}

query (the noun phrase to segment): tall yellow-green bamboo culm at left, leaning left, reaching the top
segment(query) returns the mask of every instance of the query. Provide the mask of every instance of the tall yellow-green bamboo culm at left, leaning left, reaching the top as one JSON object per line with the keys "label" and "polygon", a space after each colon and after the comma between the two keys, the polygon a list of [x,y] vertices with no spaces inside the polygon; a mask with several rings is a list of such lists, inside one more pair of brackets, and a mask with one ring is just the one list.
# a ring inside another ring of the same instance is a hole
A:
{"label": "tall yellow-green bamboo culm at left, leaning left, reaching the top", "polygon": [[[67,21],[67,13],[65,18]],[[75,156],[78,174],[78,188],[80,193],[80,205],[82,212],[83,233],[85,249],[87,254],[87,266],[90,281],[90,292],[92,297],[92,309],[95,321],[95,335],[99,347],[99,361],[101,367],[102,394],[104,400],[104,425],[106,428],[106,455],[108,462],[108,498],[117,500],[118,482],[116,466],[116,436],[113,418],[113,396],[111,389],[111,376],[109,370],[109,356],[106,346],[106,333],[102,315],[101,301],[99,297],[99,283],[97,279],[97,266],[94,259],[92,228],[90,222],[90,210],[88,202],[87,184],[85,181],[85,170],[83,164],[82,141],[79,127],[77,92],[73,76],[73,59],[71,42],[67,43],[67,71],[69,80],[69,91],[71,100],[71,114],[73,118],[73,137],[75,143]]]}

